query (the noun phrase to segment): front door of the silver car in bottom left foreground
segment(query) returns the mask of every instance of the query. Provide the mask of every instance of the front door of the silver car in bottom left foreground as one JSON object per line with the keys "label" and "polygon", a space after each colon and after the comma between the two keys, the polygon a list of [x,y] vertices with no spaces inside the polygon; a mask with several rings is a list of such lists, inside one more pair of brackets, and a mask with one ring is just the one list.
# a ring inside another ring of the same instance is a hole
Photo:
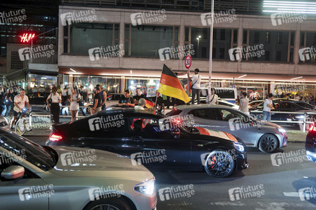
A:
{"label": "front door of the silver car in bottom left foreground", "polygon": [[[13,159],[1,155],[0,173],[11,165],[19,165]],[[39,176],[25,168],[25,176],[20,179],[0,179],[0,209],[48,209],[48,197],[37,192],[47,186]]]}

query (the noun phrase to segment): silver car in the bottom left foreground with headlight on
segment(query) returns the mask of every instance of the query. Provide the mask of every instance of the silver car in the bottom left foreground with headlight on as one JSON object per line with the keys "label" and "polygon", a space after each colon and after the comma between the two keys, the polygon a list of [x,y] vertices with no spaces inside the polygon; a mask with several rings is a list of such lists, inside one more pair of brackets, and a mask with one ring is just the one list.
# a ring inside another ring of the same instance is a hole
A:
{"label": "silver car in the bottom left foreground with headlight on", "polygon": [[156,209],[155,178],[132,161],[0,129],[0,209]]}

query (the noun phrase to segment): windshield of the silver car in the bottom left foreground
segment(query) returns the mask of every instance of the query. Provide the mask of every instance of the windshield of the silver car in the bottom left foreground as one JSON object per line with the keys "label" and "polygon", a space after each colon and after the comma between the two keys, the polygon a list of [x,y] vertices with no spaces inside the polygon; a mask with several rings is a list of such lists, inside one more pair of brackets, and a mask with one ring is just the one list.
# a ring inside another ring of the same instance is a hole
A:
{"label": "windshield of the silver car in the bottom left foreground", "polygon": [[27,160],[43,171],[48,171],[53,168],[57,161],[57,156],[53,149],[35,144],[16,134],[1,132],[0,146]]}

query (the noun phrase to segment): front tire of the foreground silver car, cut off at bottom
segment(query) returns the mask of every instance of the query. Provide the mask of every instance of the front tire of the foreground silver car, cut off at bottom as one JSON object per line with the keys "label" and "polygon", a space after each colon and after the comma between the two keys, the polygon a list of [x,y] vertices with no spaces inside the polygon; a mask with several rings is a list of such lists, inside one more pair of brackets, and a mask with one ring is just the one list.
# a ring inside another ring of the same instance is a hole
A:
{"label": "front tire of the foreground silver car, cut off at bottom", "polygon": [[131,210],[131,208],[128,206],[128,202],[125,202],[125,200],[114,197],[91,202],[83,210],[106,209],[104,207],[107,207],[107,209],[109,210]]}

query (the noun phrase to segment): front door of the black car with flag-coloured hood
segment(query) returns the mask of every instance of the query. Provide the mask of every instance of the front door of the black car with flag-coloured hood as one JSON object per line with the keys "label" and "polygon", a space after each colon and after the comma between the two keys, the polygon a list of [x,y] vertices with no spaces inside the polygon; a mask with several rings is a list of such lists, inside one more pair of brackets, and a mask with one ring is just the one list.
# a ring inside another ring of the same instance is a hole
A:
{"label": "front door of the black car with flag-coloured hood", "polygon": [[[158,118],[143,118],[144,128],[131,134],[142,138],[142,146],[137,148],[138,160],[146,167],[181,168],[187,167],[191,158],[191,141],[182,131],[177,135],[171,130],[160,130]],[[134,120],[130,120],[131,122]],[[174,127],[177,128],[177,127]],[[181,130],[181,129],[179,129]],[[131,156],[136,158],[137,155]]]}

